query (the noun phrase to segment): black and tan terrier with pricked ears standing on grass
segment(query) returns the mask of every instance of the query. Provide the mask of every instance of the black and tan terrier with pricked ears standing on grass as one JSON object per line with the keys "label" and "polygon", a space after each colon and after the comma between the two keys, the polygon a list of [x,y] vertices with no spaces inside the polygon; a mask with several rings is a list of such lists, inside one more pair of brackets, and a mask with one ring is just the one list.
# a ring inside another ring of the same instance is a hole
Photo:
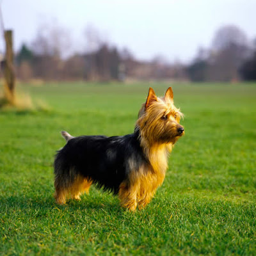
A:
{"label": "black and tan terrier with pricked ears standing on grass", "polygon": [[184,134],[181,116],[173,105],[172,87],[162,98],[149,88],[132,134],[73,137],[61,132],[67,144],[54,161],[56,202],[79,200],[97,184],[118,195],[130,211],[145,207],[163,183],[168,153]]}

